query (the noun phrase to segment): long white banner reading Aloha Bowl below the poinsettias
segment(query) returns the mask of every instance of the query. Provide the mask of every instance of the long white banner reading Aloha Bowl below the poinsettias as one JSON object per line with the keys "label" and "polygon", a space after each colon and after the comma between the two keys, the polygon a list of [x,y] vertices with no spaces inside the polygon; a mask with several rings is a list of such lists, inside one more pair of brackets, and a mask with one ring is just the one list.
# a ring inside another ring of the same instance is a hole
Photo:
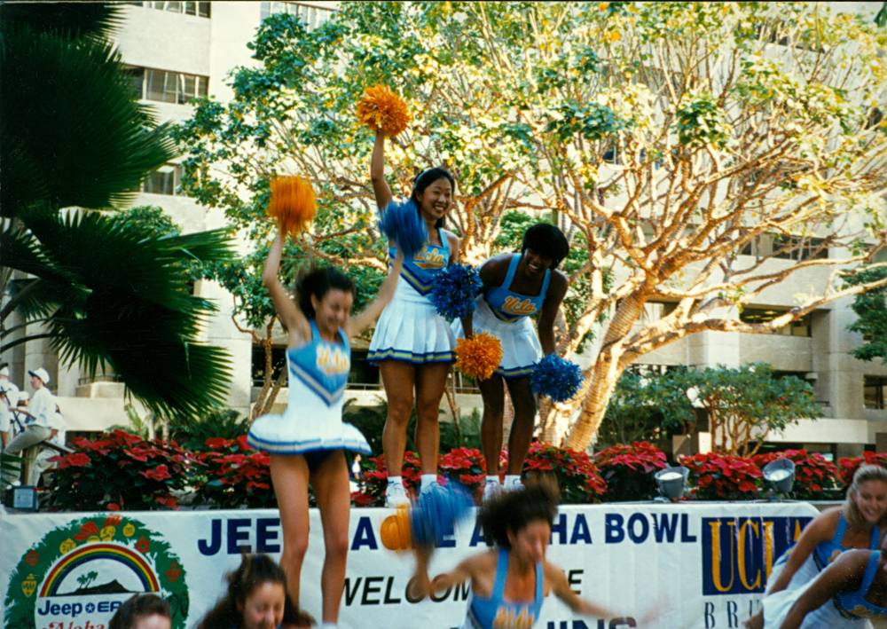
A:
{"label": "long white banner reading Aloha Bowl below the poinsettias", "polygon": [[[542,629],[737,628],[757,611],[775,559],[817,510],[809,504],[624,503],[563,506],[548,558],[583,597],[619,612],[579,618],[549,596]],[[451,629],[465,617],[468,586],[411,601],[412,555],[382,544],[387,509],[352,509],[348,578],[340,626]],[[302,606],[320,617],[324,546],[320,518],[302,569]],[[102,514],[0,512],[4,627],[106,629],[122,601],[154,592],[174,609],[174,627],[191,629],[224,592],[224,573],[241,547],[279,558],[273,510]],[[472,522],[435,554],[431,576],[483,550]],[[653,622],[640,619],[651,609]]]}

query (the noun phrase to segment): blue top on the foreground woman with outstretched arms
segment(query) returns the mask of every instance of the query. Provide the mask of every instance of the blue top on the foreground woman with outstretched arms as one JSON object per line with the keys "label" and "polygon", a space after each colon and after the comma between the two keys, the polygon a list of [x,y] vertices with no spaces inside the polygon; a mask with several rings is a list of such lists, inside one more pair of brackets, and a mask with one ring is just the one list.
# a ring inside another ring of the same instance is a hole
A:
{"label": "blue top on the foreground woman with outstretched arms", "polygon": [[508,551],[499,548],[496,564],[496,580],[489,597],[472,594],[468,618],[475,629],[530,629],[536,624],[542,610],[543,582],[542,562],[536,564],[536,597],[530,602],[503,601],[505,580],[508,576]]}

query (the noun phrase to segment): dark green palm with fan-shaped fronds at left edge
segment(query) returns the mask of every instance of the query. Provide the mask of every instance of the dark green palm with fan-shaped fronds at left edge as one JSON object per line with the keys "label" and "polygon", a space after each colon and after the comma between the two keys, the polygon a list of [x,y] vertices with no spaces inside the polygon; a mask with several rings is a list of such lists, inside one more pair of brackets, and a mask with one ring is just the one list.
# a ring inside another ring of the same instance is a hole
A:
{"label": "dark green palm with fan-shaped fronds at left edge", "polygon": [[106,41],[118,21],[113,4],[0,6],[0,351],[47,338],[90,375],[109,366],[158,414],[200,413],[224,402],[229,367],[199,342],[215,307],[182,278],[229,256],[229,236],[158,237],[101,211],[174,156]]}

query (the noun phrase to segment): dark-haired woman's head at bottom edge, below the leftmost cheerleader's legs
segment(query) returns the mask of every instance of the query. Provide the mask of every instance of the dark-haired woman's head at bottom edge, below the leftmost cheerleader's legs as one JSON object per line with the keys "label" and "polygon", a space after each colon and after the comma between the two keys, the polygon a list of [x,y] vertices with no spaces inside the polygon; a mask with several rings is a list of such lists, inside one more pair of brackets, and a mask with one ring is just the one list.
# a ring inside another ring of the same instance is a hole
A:
{"label": "dark-haired woman's head at bottom edge, below the leftmost cheerleader's legs", "polygon": [[267,554],[244,554],[225,575],[228,588],[197,629],[285,629],[313,620],[298,612],[287,595],[287,574]]}

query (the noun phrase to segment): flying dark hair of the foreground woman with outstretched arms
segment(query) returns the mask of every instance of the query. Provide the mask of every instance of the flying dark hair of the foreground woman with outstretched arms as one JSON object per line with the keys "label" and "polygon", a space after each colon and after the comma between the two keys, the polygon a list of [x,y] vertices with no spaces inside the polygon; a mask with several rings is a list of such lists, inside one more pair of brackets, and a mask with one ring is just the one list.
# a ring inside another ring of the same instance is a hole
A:
{"label": "flying dark hair of the foreground woman with outstretched arms", "polygon": [[558,492],[553,484],[528,484],[519,490],[502,491],[487,499],[477,515],[483,537],[501,548],[510,548],[509,532],[520,532],[537,521],[553,523],[557,503]]}

